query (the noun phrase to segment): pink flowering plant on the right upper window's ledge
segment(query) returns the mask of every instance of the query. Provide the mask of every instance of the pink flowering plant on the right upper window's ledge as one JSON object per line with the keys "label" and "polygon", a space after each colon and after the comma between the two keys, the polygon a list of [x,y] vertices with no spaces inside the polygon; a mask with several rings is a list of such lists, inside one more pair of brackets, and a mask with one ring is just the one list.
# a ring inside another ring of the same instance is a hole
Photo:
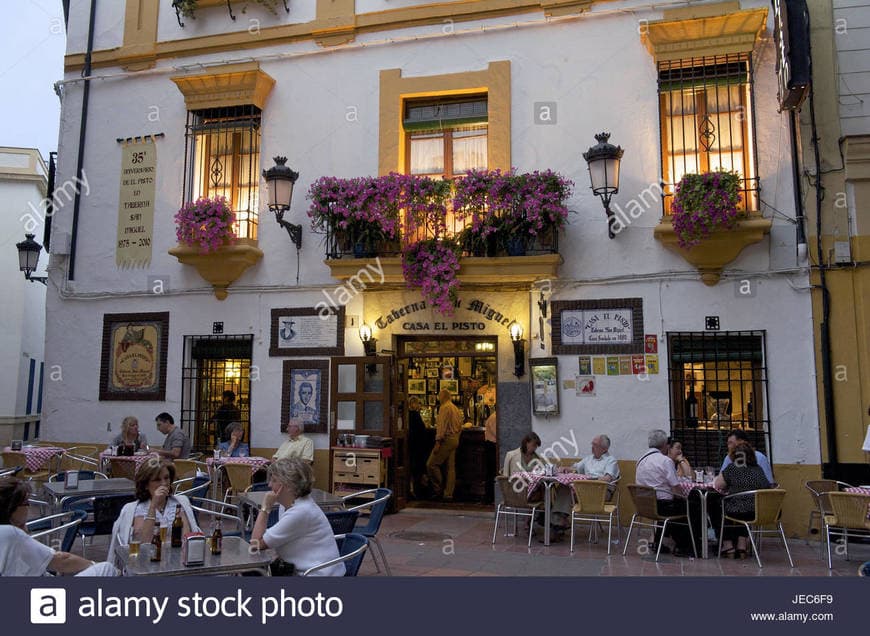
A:
{"label": "pink flowering plant on the right upper window's ledge", "polygon": [[680,247],[698,245],[716,230],[732,230],[741,214],[740,175],[717,170],[686,174],[671,205],[671,221]]}

